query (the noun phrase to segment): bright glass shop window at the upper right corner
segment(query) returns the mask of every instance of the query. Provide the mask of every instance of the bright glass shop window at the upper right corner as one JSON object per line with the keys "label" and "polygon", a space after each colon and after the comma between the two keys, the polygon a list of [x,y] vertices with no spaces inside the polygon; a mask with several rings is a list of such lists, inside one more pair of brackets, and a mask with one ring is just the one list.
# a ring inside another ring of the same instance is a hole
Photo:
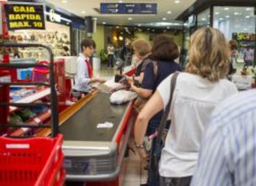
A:
{"label": "bright glass shop window at the upper right corner", "polygon": [[245,64],[245,51],[250,50],[251,63],[254,62],[255,50],[254,7],[214,7],[213,27],[218,28],[227,40],[238,43],[237,64],[242,68]]}

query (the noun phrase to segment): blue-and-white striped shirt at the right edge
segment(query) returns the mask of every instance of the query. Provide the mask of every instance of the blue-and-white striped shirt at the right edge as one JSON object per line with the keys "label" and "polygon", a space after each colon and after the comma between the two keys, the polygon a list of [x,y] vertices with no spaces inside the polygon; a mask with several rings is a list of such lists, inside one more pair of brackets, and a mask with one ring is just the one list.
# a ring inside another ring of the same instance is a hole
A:
{"label": "blue-and-white striped shirt at the right edge", "polygon": [[256,185],[256,90],[215,109],[191,185]]}

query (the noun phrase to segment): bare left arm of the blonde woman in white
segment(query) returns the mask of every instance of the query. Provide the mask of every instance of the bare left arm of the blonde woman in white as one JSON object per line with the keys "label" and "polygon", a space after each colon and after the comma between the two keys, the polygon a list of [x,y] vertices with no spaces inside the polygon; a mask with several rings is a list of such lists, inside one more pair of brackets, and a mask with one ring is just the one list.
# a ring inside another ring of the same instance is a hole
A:
{"label": "bare left arm of the blonde woman in white", "polygon": [[[163,107],[163,99],[161,98],[160,93],[156,91],[148,100],[147,104],[145,104],[142,111],[140,111],[140,114],[135,122],[134,138],[137,145],[143,145],[143,138],[147,131],[148,121],[151,119],[151,117],[155,116],[156,113],[161,111]],[[139,150],[139,154],[142,159],[145,158],[145,151],[143,149]]]}

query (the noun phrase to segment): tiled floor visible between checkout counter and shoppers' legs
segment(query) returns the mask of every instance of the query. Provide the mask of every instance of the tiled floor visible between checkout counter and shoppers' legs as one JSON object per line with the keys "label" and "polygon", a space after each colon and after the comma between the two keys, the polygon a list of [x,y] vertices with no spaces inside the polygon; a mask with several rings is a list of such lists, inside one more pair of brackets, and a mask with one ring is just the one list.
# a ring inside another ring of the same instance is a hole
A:
{"label": "tiled floor visible between checkout counter and shoppers' legs", "polygon": [[[130,139],[130,144],[134,144],[133,141],[133,139]],[[143,169],[137,154],[129,150],[129,157],[125,159],[124,163],[127,169],[123,186],[140,186],[140,184],[147,182],[147,171]]]}

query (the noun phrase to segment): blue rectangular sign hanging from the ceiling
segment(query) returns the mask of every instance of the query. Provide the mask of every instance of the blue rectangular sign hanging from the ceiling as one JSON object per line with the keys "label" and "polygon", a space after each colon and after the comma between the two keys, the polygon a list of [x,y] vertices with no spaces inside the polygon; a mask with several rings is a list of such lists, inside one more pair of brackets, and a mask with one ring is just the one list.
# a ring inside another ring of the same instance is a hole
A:
{"label": "blue rectangular sign hanging from the ceiling", "polygon": [[101,3],[101,14],[156,14],[156,3]]}

